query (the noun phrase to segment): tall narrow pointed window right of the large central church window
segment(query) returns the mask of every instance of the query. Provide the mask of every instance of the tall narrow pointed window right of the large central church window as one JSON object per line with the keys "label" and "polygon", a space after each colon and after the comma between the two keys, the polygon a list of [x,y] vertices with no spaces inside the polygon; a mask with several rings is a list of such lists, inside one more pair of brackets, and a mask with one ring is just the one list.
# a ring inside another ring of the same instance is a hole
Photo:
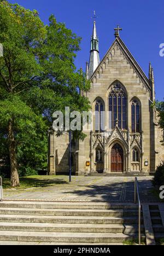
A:
{"label": "tall narrow pointed window right of the large central church window", "polygon": [[140,130],[140,107],[139,102],[134,99],[131,103],[131,123],[132,132],[139,132]]}

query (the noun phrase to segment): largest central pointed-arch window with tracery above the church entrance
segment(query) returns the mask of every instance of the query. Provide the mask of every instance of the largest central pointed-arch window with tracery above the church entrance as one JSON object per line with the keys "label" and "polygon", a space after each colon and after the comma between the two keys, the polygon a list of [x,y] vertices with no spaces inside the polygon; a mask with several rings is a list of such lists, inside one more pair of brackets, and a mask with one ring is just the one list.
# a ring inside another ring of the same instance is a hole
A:
{"label": "largest central pointed-arch window with tracery above the church entrance", "polygon": [[124,89],[119,83],[113,85],[109,92],[109,129],[114,129],[116,119],[120,129],[126,129],[127,99]]}

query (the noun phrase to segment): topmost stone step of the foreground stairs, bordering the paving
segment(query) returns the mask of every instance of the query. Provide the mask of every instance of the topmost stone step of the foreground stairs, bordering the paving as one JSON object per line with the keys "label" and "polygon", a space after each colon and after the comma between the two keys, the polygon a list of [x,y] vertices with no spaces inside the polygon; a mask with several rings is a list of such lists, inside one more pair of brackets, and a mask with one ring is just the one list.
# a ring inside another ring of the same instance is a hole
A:
{"label": "topmost stone step of the foreground stairs, bordering the paving", "polygon": [[38,209],[137,209],[134,203],[101,203],[101,202],[22,202],[22,201],[3,201],[0,208],[38,208]]}

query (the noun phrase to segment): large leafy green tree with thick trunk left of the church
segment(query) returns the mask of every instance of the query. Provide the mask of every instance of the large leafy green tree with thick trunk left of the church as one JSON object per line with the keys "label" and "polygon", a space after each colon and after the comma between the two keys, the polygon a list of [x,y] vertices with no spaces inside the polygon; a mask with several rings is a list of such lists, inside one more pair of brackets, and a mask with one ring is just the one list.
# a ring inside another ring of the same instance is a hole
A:
{"label": "large leafy green tree with thick trunk left of the church", "polygon": [[[7,137],[11,185],[19,185],[17,153],[25,137],[45,136],[55,110],[70,106],[88,110],[89,101],[77,88],[87,91],[85,75],[75,72],[74,58],[80,38],[53,15],[44,25],[36,10],[0,2],[0,121]],[[28,144],[28,143],[27,143]],[[45,146],[45,145],[44,145]],[[29,144],[29,151],[31,145]],[[27,147],[27,148],[28,148]],[[22,150],[23,152],[24,150]]]}

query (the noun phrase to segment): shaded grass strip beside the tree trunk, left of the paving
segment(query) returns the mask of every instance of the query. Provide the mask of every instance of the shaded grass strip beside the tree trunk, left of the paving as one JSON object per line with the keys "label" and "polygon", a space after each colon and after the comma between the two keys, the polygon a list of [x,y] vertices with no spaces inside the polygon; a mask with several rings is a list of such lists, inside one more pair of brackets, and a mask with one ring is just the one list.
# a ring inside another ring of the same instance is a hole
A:
{"label": "shaded grass strip beside the tree trunk, left of the paving", "polygon": [[[67,176],[27,176],[20,177],[20,187],[15,187],[16,190],[28,189],[28,188],[39,188],[39,187],[49,187],[57,184],[67,184],[68,177]],[[11,189],[10,179],[3,179],[3,189]]]}

